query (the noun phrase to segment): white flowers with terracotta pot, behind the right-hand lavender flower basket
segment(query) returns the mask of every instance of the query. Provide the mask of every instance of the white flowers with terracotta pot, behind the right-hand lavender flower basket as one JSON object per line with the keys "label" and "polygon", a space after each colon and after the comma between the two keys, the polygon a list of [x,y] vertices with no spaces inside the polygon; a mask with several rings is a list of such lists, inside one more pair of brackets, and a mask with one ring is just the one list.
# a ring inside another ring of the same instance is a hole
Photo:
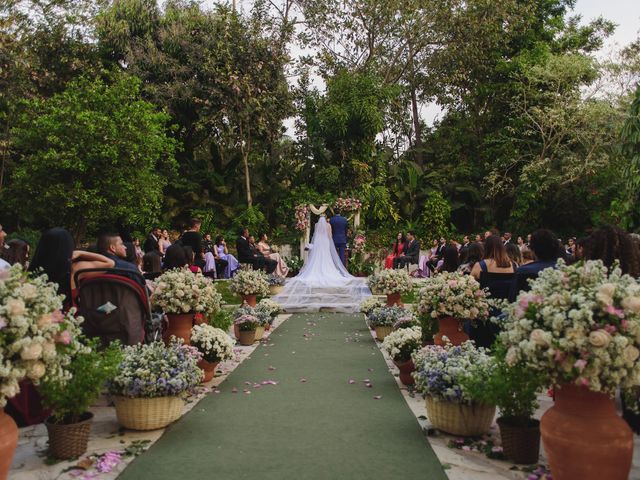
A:
{"label": "white flowers with terracotta pot, behind the right-hand lavender flower basket", "polygon": [[418,312],[438,321],[436,345],[460,345],[469,340],[462,330],[464,320],[475,324],[488,318],[487,292],[471,275],[444,272],[425,280],[418,298]]}

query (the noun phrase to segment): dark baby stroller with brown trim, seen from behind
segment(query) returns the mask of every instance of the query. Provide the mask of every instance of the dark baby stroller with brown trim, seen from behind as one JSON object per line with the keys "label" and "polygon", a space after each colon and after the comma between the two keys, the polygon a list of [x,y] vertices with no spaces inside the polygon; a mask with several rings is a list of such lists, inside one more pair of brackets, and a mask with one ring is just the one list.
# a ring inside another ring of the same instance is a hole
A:
{"label": "dark baby stroller with brown trim, seen from behind", "polygon": [[[96,275],[80,279],[83,273]],[[137,278],[139,277],[139,278]],[[76,303],[87,337],[98,337],[105,347],[114,340],[123,345],[162,338],[162,320],[153,317],[141,274],[115,268],[86,269],[75,274]]]}

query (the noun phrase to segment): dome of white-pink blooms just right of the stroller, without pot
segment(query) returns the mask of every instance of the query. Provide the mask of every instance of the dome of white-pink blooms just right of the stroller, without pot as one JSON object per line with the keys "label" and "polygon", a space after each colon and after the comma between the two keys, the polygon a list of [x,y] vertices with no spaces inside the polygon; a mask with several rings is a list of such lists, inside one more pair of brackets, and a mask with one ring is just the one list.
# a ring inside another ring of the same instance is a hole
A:
{"label": "dome of white-pink blooms just right of the stroller, without pot", "polygon": [[188,269],[173,269],[160,275],[151,296],[152,305],[165,313],[201,313],[207,318],[220,311],[221,301],[222,296],[210,279]]}

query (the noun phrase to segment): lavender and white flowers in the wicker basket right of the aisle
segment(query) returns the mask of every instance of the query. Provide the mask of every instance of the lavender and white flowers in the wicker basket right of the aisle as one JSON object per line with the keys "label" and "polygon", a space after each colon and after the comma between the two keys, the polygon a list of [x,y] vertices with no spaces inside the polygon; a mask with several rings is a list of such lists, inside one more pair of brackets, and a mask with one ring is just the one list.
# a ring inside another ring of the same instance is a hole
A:
{"label": "lavender and white flowers in the wicker basket right of the aisle", "polygon": [[416,366],[412,373],[416,391],[423,397],[468,405],[476,398],[465,386],[467,375],[488,378],[494,365],[486,350],[473,342],[455,347],[427,345],[411,358]]}

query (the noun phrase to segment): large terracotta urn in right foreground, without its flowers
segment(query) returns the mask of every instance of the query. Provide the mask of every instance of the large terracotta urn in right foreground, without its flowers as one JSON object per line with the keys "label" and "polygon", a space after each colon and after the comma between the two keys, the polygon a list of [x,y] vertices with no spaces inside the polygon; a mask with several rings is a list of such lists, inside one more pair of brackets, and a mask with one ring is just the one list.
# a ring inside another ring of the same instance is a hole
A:
{"label": "large terracotta urn in right foreground, without its flowers", "polygon": [[540,421],[554,480],[626,480],[633,434],[608,395],[564,384]]}

